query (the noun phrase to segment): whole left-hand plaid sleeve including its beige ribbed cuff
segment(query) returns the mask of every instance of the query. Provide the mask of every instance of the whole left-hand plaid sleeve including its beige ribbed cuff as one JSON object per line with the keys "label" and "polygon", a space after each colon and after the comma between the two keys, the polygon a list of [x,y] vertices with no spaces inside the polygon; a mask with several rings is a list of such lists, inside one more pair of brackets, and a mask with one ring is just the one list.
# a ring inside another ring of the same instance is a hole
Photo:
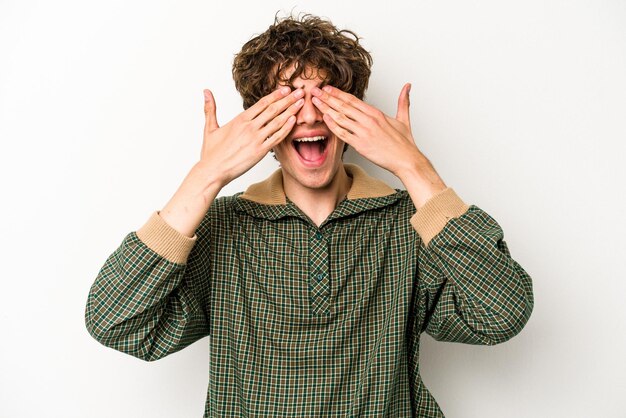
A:
{"label": "whole left-hand plaid sleeve including its beige ribbed cuff", "polygon": [[[147,361],[209,335],[206,258],[155,212],[108,257],[87,297],[85,323],[100,343]],[[202,247],[200,247],[202,248]],[[196,261],[198,260],[198,261]]]}

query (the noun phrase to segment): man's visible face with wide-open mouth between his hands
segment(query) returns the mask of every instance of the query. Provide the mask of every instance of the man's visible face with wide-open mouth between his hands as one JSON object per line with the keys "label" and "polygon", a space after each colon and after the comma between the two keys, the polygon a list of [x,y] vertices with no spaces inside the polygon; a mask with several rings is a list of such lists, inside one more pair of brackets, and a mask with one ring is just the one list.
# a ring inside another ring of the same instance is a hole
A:
{"label": "man's visible face with wide-open mouth between his hands", "polygon": [[[302,75],[310,75],[304,71]],[[316,73],[313,72],[313,75]],[[287,75],[289,75],[287,73]],[[285,190],[328,189],[342,165],[344,142],[328,129],[322,113],[311,102],[311,89],[322,87],[323,78],[298,77],[295,88],[304,90],[304,105],[296,114],[296,124],[290,134],[274,147],[276,159],[283,169]]]}

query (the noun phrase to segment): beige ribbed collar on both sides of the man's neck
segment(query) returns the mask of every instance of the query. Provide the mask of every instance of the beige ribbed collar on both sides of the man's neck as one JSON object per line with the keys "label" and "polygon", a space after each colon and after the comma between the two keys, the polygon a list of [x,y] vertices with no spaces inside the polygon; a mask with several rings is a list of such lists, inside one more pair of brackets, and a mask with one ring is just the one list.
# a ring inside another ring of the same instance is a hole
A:
{"label": "beige ribbed collar on both sides of the man's neck", "polygon": [[[352,186],[347,196],[348,200],[383,197],[396,192],[383,181],[369,176],[358,165],[344,164],[343,166],[348,176],[352,177]],[[239,197],[262,205],[286,205],[287,198],[283,189],[282,170],[278,169],[266,180],[252,184]]]}

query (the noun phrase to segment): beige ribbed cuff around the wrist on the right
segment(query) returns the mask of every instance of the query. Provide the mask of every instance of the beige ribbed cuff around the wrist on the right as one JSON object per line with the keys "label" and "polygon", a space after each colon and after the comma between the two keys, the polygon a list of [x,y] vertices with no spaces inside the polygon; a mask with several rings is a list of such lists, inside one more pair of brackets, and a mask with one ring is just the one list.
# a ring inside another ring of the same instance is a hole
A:
{"label": "beige ribbed cuff around the wrist on the right", "polygon": [[461,200],[453,189],[447,188],[430,199],[411,217],[411,225],[428,245],[448,221],[467,212],[469,206]]}

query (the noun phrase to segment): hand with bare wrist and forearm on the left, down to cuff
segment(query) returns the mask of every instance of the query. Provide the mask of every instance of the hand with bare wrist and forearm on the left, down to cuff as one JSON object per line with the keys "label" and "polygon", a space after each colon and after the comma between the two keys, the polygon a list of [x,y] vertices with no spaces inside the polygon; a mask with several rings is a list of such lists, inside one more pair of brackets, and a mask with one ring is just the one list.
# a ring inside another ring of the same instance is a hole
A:
{"label": "hand with bare wrist and forearm on the left, down to cuff", "polygon": [[196,163],[160,211],[170,226],[192,237],[222,187],[241,176],[289,135],[304,91],[289,87],[268,94],[223,127],[217,124],[215,99],[204,91],[204,140]]}

